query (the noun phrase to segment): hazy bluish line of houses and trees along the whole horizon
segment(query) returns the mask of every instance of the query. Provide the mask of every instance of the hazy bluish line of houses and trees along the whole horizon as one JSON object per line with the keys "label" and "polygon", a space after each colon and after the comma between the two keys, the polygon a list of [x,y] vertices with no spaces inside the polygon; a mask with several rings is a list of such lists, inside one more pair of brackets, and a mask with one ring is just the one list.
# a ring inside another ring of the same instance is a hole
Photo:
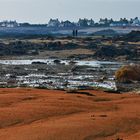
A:
{"label": "hazy bluish line of houses and trees along the whole horizon", "polygon": [[14,28],[14,27],[48,27],[48,28],[73,28],[73,27],[139,27],[140,20],[138,17],[126,19],[121,18],[116,21],[108,18],[101,18],[98,22],[93,19],[79,19],[78,22],[71,22],[69,20],[60,21],[59,19],[50,19],[46,24],[30,24],[18,23],[17,21],[1,21],[0,27]]}

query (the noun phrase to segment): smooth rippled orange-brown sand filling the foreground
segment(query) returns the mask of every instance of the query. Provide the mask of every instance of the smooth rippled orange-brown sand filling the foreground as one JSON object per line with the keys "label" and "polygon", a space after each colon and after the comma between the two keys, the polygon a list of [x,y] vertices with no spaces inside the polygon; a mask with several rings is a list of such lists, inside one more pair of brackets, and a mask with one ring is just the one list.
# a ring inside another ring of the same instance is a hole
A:
{"label": "smooth rippled orange-brown sand filling the foreground", "polygon": [[140,96],[0,89],[0,140],[140,140]]}

